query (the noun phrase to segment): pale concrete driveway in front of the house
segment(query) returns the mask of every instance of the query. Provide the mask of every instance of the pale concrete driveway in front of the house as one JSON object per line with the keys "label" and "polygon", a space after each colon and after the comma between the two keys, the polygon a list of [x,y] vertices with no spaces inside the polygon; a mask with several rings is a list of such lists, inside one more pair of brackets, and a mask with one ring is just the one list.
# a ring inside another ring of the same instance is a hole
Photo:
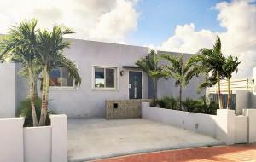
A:
{"label": "pale concrete driveway in front of the house", "polygon": [[69,161],[221,144],[210,136],[146,119],[68,119]]}

